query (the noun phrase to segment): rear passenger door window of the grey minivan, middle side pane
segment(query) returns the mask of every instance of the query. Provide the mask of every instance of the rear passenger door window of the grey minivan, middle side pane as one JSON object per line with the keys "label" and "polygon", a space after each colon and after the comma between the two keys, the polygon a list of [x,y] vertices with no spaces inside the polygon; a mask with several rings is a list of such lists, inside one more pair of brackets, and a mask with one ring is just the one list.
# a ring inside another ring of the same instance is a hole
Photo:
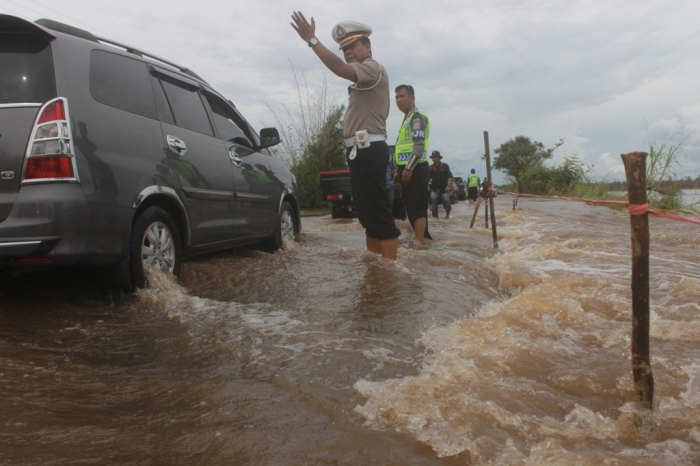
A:
{"label": "rear passenger door window of the grey minivan, middle side pane", "polygon": [[191,129],[198,133],[213,136],[207,110],[197,92],[197,88],[184,82],[160,75],[160,82],[168,97],[170,108],[175,117],[175,124],[182,128]]}

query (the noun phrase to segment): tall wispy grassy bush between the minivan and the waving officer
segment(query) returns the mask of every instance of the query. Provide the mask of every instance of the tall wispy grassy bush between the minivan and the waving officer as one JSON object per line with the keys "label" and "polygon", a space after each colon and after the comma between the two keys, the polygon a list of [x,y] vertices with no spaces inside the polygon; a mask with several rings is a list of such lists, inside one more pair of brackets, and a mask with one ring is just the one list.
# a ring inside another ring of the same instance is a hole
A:
{"label": "tall wispy grassy bush between the minivan and the waving officer", "polygon": [[325,207],[321,199],[323,170],[347,168],[343,144],[343,113],[337,96],[329,94],[328,76],[307,77],[294,68],[295,103],[277,112],[269,105],[282,143],[273,151],[296,177],[302,209]]}

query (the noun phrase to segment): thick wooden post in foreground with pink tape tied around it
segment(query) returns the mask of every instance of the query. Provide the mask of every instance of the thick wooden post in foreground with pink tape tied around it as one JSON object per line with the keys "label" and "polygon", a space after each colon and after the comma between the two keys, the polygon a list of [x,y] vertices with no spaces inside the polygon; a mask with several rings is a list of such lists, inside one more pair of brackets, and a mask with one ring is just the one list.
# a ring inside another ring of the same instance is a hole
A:
{"label": "thick wooden post in foreground with pink tape tied around it", "polygon": [[[651,410],[654,375],[649,358],[649,214],[645,152],[623,154],[632,227],[632,374],[637,408]],[[642,212],[642,213],[640,213]]]}

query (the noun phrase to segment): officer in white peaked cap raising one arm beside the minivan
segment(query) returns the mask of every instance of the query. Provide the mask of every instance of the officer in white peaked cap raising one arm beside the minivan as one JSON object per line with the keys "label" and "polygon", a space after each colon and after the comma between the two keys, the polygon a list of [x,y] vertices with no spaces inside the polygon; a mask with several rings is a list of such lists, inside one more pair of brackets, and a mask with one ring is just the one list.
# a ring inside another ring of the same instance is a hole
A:
{"label": "officer in white peaked cap raising one arm beside the minivan", "polygon": [[300,11],[292,14],[292,27],[318,58],[336,76],[354,83],[348,88],[348,108],[343,118],[343,137],[355,209],[365,228],[367,249],[395,260],[398,238],[386,191],[389,146],[386,119],[389,116],[389,76],[372,58],[369,40],[372,28],[342,21],[331,31],[345,62],[316,37],[316,22],[309,23]]}

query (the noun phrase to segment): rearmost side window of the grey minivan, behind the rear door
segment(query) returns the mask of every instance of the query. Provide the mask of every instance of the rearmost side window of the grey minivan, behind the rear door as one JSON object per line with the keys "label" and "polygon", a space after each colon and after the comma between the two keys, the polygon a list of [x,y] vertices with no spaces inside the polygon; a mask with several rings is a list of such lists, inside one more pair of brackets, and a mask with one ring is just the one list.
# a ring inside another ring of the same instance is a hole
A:
{"label": "rearmost side window of the grey minivan, behind the rear door", "polygon": [[90,53],[90,94],[130,113],[158,118],[146,63],[103,50]]}

